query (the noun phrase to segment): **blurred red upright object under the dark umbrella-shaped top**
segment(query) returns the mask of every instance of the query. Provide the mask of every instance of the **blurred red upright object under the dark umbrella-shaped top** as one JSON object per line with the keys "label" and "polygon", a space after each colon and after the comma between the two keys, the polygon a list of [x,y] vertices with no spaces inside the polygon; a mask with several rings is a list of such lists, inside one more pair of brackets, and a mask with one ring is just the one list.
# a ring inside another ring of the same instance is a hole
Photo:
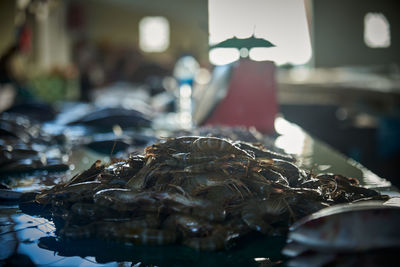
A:
{"label": "blurred red upright object under the dark umbrella-shaped top", "polygon": [[205,124],[254,126],[262,133],[273,133],[277,112],[274,63],[241,59],[234,67],[226,97]]}

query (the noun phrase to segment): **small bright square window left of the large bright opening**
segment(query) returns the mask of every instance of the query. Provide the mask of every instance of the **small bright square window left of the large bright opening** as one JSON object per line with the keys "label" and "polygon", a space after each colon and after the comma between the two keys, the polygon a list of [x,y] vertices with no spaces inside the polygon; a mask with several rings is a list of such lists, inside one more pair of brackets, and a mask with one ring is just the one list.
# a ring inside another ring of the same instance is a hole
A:
{"label": "small bright square window left of the large bright opening", "polygon": [[144,52],[163,52],[169,47],[169,23],[164,17],[144,17],[139,22],[139,47]]}

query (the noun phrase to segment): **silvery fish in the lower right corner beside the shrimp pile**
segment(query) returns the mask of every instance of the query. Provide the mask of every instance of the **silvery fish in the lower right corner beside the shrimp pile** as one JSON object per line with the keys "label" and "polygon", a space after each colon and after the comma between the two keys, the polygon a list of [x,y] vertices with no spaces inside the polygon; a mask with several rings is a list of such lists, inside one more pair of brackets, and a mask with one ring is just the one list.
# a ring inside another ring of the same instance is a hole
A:
{"label": "silvery fish in the lower right corner beside the shrimp pile", "polygon": [[365,254],[393,257],[400,248],[400,205],[395,199],[339,204],[304,217],[290,227],[282,253],[294,257],[291,266],[324,265]]}

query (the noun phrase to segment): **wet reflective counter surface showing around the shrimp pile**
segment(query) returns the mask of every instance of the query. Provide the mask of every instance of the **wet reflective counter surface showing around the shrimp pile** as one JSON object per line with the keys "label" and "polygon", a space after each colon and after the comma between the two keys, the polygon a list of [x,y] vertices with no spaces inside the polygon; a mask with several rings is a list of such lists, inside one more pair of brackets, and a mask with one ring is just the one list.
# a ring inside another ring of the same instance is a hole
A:
{"label": "wet reflective counter surface showing around the shrimp pile", "polygon": [[[356,177],[365,187],[399,195],[388,181],[313,139],[298,126],[278,118],[275,128],[280,134],[275,145],[297,155],[298,164],[303,168],[313,173]],[[107,162],[109,157],[80,148],[70,156],[73,167],[69,172],[10,177],[8,184],[18,191],[51,187],[89,168],[98,159]],[[0,203],[0,263],[4,259],[24,266],[270,266],[285,262],[281,254],[285,245],[282,237],[248,237],[228,251],[196,252],[177,245],[124,245],[96,240],[60,242],[54,232],[54,224],[47,219],[24,214],[18,205]]]}

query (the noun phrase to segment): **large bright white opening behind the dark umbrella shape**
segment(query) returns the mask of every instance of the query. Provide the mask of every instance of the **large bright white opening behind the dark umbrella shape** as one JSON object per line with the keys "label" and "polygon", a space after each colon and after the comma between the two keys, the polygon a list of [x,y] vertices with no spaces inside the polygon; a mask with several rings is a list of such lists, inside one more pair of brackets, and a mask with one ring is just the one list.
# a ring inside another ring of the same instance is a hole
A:
{"label": "large bright white opening behind the dark umbrella shape", "polygon": [[[256,38],[264,38],[276,47],[250,49],[249,57],[252,60],[272,60],[277,65],[302,65],[311,59],[304,1],[209,0],[208,4],[210,45],[233,36],[247,38],[254,34]],[[215,64],[216,57],[224,57],[222,53],[227,54],[223,50],[218,53],[211,50],[211,63]]]}

